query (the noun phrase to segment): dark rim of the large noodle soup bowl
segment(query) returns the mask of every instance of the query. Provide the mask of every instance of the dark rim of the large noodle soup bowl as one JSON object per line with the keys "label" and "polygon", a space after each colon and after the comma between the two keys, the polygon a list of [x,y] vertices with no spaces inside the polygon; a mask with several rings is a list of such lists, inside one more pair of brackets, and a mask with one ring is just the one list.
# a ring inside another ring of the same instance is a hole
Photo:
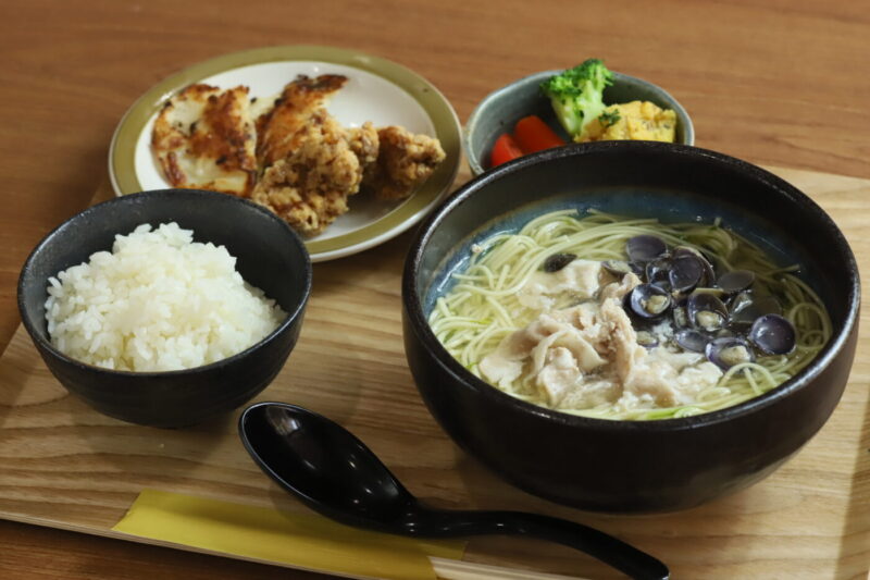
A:
{"label": "dark rim of the large noodle soup bowl", "polygon": [[[843,326],[836,332],[831,341],[824,346],[822,351],[800,372],[788,381],[763,393],[757,397],[745,400],[741,404],[725,407],[723,409],[694,415],[689,417],[672,419],[655,419],[641,421],[620,421],[612,419],[598,419],[592,417],[574,416],[561,411],[550,410],[532,403],[526,403],[517,397],[512,397],[501,392],[495,386],[478,379],[469,372],[458,360],[456,360],[435,336],[426,314],[423,310],[423,296],[417,291],[417,279],[419,276],[420,263],[423,259],[424,249],[432,237],[434,231],[440,225],[447,215],[453,211],[461,211],[462,203],[472,197],[477,190],[498,182],[505,176],[519,173],[527,168],[548,163],[555,159],[567,157],[582,157],[586,155],[604,153],[619,155],[621,151],[658,151],[664,155],[679,156],[684,158],[703,159],[707,162],[716,163],[731,171],[743,173],[755,181],[761,182],[767,187],[775,189],[791,196],[804,207],[812,211],[819,219],[819,225],[824,227],[834,238],[836,247],[832,248],[847,264],[849,287],[847,296],[847,310]],[[426,350],[432,354],[436,362],[455,379],[459,388],[468,388],[476,395],[490,400],[496,406],[508,406],[523,412],[536,416],[543,420],[552,421],[572,427],[586,427],[602,431],[681,431],[710,427],[737,417],[758,412],[767,407],[775,405],[778,402],[791,396],[812,382],[843,350],[852,335],[857,322],[860,310],[860,280],[858,266],[852,248],[843,233],[833,220],[806,194],[787,183],[785,180],[773,173],[754,165],[747,161],[726,156],[717,151],[701,149],[680,144],[657,143],[657,141],[597,141],[587,144],[572,144],[556,149],[548,149],[523,156],[513,161],[499,165],[490,171],[482,173],[477,177],[457,189],[447,201],[421,224],[420,229],[411,242],[408,257],[406,259],[405,271],[402,274],[402,301],[408,312],[411,326],[418,337],[423,343]],[[453,385],[442,385],[442,388],[452,388]]]}

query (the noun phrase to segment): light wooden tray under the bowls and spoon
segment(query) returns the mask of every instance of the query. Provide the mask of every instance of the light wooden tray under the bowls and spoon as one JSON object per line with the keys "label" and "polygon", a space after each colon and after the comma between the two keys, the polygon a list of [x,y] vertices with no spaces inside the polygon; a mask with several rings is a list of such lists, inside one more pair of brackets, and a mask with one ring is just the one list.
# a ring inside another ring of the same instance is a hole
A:
{"label": "light wooden tray under the bowls and spoon", "polygon": [[[870,271],[870,181],[774,169],[818,201]],[[459,183],[468,178],[460,175]],[[111,196],[108,187],[96,199]],[[808,235],[811,233],[808,232]],[[410,234],[314,266],[302,334],[257,400],[311,408],[345,424],[432,504],[570,518],[636,544],[681,578],[863,578],[870,564],[870,308],[849,385],[826,425],[761,483],[676,514],[586,514],[504,483],[459,451],[426,411],[406,366],[400,272]],[[144,489],[304,511],[238,442],[238,411],[192,429],[158,430],[103,417],[70,396],[18,329],[0,358],[0,518],[119,534],[111,528]],[[184,548],[184,546],[177,546]],[[464,559],[505,568],[618,577],[543,542],[482,538]],[[495,577],[498,577],[496,573]]]}

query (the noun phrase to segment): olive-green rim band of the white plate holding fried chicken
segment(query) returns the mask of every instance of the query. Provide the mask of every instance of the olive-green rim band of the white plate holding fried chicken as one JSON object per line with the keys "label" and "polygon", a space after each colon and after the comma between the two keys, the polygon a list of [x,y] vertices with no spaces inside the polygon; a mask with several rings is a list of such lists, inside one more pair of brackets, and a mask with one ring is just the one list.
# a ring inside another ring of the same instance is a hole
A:
{"label": "olive-green rim band of the white plate holding fried chicken", "polygon": [[195,64],[169,76],[139,97],[122,118],[109,148],[109,175],[115,194],[142,190],[135,165],[136,145],[151,118],[170,96],[187,85],[226,71],[282,61],[338,64],[382,77],[407,92],[425,111],[447,153],[428,181],[387,213],[350,232],[306,242],[312,261],[349,256],[395,237],[419,222],[448,193],[459,171],[461,128],[456,111],[438,89],[413,71],[378,57],[333,47],[284,46],[234,52]]}

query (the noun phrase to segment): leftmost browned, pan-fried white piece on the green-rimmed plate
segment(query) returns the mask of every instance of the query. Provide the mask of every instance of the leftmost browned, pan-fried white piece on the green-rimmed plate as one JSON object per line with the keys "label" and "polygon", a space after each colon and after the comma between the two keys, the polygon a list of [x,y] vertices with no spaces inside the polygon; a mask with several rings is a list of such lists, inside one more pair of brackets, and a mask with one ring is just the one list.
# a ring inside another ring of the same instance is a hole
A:
{"label": "leftmost browned, pan-fried white piece on the green-rimmed plate", "polygon": [[190,85],[160,111],[151,146],[176,187],[249,197],[257,181],[257,135],[248,87]]}

